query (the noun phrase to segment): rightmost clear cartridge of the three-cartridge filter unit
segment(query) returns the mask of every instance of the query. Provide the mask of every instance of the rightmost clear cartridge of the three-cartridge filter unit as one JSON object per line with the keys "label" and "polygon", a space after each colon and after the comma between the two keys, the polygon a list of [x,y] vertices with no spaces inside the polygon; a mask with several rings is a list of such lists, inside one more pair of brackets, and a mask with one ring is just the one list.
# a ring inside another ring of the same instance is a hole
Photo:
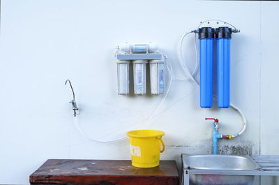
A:
{"label": "rightmost clear cartridge of the three-cartridge filter unit", "polygon": [[164,61],[151,60],[149,61],[150,67],[150,89],[151,94],[164,93]]}

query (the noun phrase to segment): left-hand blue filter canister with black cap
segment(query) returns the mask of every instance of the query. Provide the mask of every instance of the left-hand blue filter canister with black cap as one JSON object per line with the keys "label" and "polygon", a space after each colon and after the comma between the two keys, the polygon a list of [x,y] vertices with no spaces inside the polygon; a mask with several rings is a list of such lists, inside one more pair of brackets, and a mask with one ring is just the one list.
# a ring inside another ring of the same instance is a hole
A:
{"label": "left-hand blue filter canister with black cap", "polygon": [[214,29],[202,27],[199,33],[200,106],[212,107],[213,97],[213,40]]}

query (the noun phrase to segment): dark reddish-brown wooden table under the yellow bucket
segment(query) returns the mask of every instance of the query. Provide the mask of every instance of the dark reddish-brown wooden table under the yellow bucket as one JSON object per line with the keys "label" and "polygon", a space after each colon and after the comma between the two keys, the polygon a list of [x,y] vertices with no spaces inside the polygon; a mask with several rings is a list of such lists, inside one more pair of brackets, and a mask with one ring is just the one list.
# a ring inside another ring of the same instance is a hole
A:
{"label": "dark reddish-brown wooden table under the yellow bucket", "polygon": [[31,184],[179,185],[175,161],[155,168],[136,168],[131,161],[47,160],[30,175]]}

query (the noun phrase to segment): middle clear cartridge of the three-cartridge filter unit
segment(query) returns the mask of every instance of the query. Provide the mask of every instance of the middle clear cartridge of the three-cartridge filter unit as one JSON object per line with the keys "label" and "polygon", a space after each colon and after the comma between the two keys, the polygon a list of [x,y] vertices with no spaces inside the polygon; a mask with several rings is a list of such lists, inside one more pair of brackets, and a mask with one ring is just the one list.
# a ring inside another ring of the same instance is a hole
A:
{"label": "middle clear cartridge of the three-cartridge filter unit", "polygon": [[146,60],[133,61],[134,92],[137,95],[146,94]]}

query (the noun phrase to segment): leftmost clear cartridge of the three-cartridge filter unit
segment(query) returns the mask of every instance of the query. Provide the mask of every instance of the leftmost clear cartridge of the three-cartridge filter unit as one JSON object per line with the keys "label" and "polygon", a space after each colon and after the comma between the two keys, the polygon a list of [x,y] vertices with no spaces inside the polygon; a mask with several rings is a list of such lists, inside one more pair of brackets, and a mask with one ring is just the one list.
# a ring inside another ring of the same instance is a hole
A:
{"label": "leftmost clear cartridge of the three-cartridge filter unit", "polygon": [[118,94],[129,94],[129,64],[130,61],[118,60],[117,63],[117,84]]}

